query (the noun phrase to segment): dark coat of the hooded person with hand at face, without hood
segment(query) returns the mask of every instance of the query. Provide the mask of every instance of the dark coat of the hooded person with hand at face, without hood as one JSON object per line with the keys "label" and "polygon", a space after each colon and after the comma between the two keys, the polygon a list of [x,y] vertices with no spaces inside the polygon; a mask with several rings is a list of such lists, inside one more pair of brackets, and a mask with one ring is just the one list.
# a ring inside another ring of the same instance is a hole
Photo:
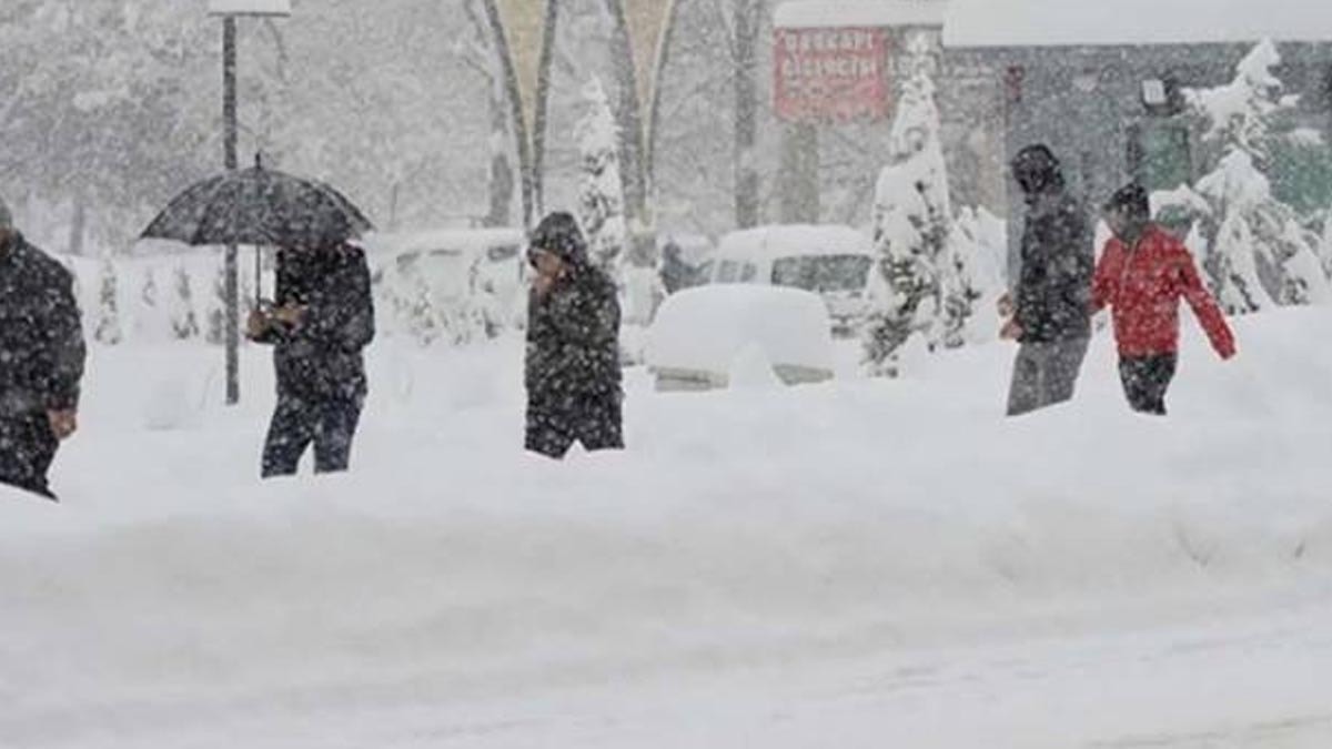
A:
{"label": "dark coat of the hooded person with hand at face, without hood", "polygon": [[586,261],[545,297],[529,297],[526,385],[529,401],[553,412],[619,398],[619,295]]}

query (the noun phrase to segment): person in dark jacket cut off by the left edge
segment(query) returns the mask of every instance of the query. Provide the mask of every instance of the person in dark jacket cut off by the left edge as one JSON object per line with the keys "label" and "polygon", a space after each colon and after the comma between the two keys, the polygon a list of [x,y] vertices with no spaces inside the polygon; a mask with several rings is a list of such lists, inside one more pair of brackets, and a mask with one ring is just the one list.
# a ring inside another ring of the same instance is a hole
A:
{"label": "person in dark jacket cut off by the left edge", "polygon": [[47,473],[79,428],[85,356],[73,275],[0,201],[0,482],[56,498]]}

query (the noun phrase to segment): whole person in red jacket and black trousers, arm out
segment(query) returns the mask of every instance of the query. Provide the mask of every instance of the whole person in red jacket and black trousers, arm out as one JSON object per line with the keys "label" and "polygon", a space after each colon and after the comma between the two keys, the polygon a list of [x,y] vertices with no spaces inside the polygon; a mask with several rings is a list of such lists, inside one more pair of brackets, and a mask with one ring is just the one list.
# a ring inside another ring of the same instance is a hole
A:
{"label": "whole person in red jacket and black trousers, arm out", "polygon": [[1122,188],[1104,205],[1114,239],[1106,244],[1092,283],[1092,312],[1111,308],[1119,345],[1119,376],[1134,410],[1166,414],[1166,392],[1179,363],[1179,300],[1221,359],[1235,356],[1235,335],[1203,287],[1188,248],[1151,220],[1142,185]]}

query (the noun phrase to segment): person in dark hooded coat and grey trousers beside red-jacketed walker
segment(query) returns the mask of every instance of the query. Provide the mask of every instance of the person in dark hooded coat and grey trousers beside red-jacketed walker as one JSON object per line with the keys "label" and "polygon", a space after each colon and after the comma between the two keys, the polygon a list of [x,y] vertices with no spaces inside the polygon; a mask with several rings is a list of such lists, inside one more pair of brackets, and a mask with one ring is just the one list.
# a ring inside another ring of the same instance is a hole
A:
{"label": "person in dark hooded coat and grey trousers beside red-jacketed walker", "polygon": [[1050,148],[1022,149],[1012,175],[1027,200],[1027,221],[1018,281],[999,313],[1010,317],[1002,336],[1020,344],[1008,392],[1008,416],[1019,416],[1074,397],[1091,340],[1087,303],[1096,256],[1086,211],[1064,189]]}

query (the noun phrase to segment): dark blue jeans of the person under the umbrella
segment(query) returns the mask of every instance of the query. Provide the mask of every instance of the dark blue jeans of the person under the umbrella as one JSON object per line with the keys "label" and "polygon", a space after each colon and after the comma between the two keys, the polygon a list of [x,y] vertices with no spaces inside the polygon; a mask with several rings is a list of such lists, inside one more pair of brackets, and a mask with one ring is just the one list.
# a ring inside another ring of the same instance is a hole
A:
{"label": "dark blue jeans of the person under the umbrella", "polygon": [[264,442],[264,478],[294,476],[312,442],[316,473],[346,470],[361,406],[361,398],[280,396]]}

